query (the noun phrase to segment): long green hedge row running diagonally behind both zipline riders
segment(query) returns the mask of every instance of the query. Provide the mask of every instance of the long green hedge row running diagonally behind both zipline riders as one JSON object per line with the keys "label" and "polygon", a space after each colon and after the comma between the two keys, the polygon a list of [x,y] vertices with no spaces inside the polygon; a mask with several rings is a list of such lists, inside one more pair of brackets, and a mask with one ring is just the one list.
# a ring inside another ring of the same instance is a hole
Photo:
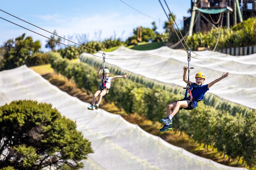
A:
{"label": "long green hedge row running diagonally behind both zipline riders", "polygon": [[[50,63],[60,74],[74,79],[79,87],[92,90],[94,93],[99,87],[97,69],[86,63],[74,63],[62,59],[58,53],[50,53]],[[96,63],[96,62],[95,62]],[[94,64],[95,64],[94,63]],[[97,65],[97,64],[95,64]],[[117,68],[109,68],[110,76],[113,72],[122,75]],[[163,85],[154,83],[136,83],[145,81],[131,78],[116,79],[113,81],[109,95],[105,99],[115,102],[119,107],[130,113],[138,113],[150,120],[159,121],[165,117],[166,104],[183,98],[183,94],[164,90]],[[133,81],[131,80],[133,79]],[[245,116],[243,116],[245,115]],[[225,110],[214,109],[199,103],[192,111],[182,109],[173,118],[173,127],[190,135],[194,140],[206,145],[212,145],[231,158],[241,158],[248,165],[256,165],[256,111],[250,110],[248,114],[237,112],[230,115]]]}

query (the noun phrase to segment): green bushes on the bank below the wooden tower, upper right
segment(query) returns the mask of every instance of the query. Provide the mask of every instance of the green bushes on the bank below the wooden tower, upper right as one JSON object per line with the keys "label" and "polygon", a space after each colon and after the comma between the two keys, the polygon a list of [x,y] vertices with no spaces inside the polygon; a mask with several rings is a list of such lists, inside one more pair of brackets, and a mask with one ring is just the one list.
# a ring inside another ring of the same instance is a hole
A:
{"label": "green bushes on the bank below the wooden tower, upper right", "polygon": [[188,36],[186,42],[192,50],[197,50],[198,47],[213,49],[219,33],[217,49],[256,45],[256,17],[249,18],[230,29],[222,27],[211,29],[206,33],[197,32]]}

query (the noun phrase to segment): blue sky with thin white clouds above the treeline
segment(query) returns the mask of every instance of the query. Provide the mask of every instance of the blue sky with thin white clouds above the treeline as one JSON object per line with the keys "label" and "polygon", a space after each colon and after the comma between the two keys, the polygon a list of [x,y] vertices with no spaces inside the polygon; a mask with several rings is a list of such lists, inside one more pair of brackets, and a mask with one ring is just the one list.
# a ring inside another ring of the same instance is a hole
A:
{"label": "blue sky with thin white clouds above the treeline", "polygon": [[[168,12],[164,0],[161,2]],[[191,6],[191,0],[166,0],[166,2],[176,17],[178,27],[181,28],[183,16],[190,16],[187,11]],[[76,43],[79,43],[76,37],[81,35],[86,35],[86,38],[80,40],[87,41],[110,37],[126,40],[133,35],[133,29],[138,26],[152,28],[153,21],[156,22],[157,31],[164,32],[164,21],[168,20],[158,0],[0,0],[0,4],[1,10],[49,32],[56,30],[58,35]],[[0,17],[4,19],[45,37],[52,35],[3,11],[0,11]],[[39,40],[42,51],[47,50],[45,49],[47,38],[0,18],[0,46],[23,33],[26,33],[26,37],[31,36],[34,41]]]}

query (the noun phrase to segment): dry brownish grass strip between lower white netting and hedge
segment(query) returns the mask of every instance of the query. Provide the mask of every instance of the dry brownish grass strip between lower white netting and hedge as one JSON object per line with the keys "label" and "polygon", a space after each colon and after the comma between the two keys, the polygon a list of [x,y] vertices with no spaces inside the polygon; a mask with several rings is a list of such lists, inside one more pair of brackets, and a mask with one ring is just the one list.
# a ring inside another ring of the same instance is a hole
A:
{"label": "dry brownish grass strip between lower white netting and hedge", "polygon": [[[76,60],[75,60],[76,61]],[[45,79],[49,80],[50,83],[60,88],[60,90],[67,92],[71,96],[79,98],[81,101],[91,103],[93,94],[85,89],[78,88],[72,80],[67,80],[63,75],[58,75],[53,73],[53,69],[50,68],[50,64],[30,67],[34,71],[38,72]],[[214,160],[224,165],[234,166],[234,167],[245,167],[241,165],[241,160],[237,164],[237,160],[228,160],[228,157],[223,157],[223,155],[211,146],[207,149],[203,144],[195,142],[190,136],[182,133],[178,130],[170,130],[167,132],[159,132],[159,128],[162,127],[160,122],[153,123],[147,120],[145,117],[138,115],[136,113],[126,113],[123,109],[118,108],[113,102],[107,103],[104,98],[100,108],[105,111],[112,112],[114,114],[120,114],[128,122],[138,124],[143,130],[156,136],[160,136],[163,140],[186,149],[187,151],[196,154],[207,159]],[[245,167],[249,168],[249,167]],[[254,168],[251,170],[255,170]]]}

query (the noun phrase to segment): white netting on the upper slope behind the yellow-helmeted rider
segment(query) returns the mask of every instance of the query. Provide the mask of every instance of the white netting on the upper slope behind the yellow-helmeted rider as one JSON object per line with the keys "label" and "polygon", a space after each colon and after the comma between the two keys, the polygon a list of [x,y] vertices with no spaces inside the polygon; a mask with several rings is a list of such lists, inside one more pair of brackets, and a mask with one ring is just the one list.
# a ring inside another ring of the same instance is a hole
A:
{"label": "white netting on the upper slope behind the yellow-helmeted rider", "polygon": [[[194,67],[194,69],[190,70],[191,81],[194,81],[194,76],[197,72],[203,72],[206,75],[204,84],[219,78],[223,72],[229,72],[230,74],[227,78],[214,84],[207,93],[213,93],[228,101],[256,109],[256,54],[230,56],[212,51],[196,51],[196,53],[200,56],[194,53],[191,53],[191,56],[200,59],[191,58],[190,67]],[[186,86],[186,83],[183,82],[183,67],[188,65],[185,50],[161,47],[156,50],[138,51],[120,47],[107,54],[120,55],[106,55],[105,61],[108,64],[149,79],[181,87]],[[102,56],[100,53],[95,55]],[[83,53],[80,57],[93,57],[100,60],[100,58],[86,53]]]}

